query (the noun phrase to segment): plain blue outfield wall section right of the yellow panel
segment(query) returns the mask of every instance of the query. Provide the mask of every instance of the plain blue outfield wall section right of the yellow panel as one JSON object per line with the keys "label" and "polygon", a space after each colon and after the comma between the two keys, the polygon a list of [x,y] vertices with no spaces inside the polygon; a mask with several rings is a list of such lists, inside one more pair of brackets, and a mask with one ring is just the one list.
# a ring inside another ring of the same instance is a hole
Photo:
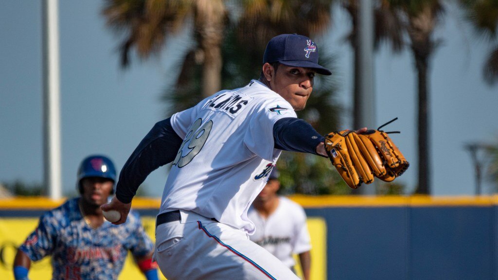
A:
{"label": "plain blue outfield wall section right of the yellow panel", "polygon": [[327,279],[497,279],[497,207],[306,208],[327,223]]}

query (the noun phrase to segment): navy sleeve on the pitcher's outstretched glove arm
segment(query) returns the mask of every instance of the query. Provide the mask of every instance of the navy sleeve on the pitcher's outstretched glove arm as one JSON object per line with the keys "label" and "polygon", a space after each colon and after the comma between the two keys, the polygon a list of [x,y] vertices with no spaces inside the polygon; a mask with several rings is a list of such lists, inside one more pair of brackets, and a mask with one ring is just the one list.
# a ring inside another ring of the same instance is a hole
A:
{"label": "navy sleeve on the pitcher's outstretched glove arm", "polygon": [[283,118],[273,125],[273,140],[276,149],[317,154],[316,146],[325,138],[301,119]]}

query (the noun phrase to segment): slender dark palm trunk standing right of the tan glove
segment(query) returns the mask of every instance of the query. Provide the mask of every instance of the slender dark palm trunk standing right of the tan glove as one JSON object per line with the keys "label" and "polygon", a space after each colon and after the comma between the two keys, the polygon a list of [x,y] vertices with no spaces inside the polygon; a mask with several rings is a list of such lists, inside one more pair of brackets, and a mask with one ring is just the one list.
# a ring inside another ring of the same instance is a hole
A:
{"label": "slender dark palm trunk standing right of the tan glove", "polygon": [[[430,45],[430,43],[426,44]],[[413,48],[418,72],[418,187],[416,193],[429,194],[429,88],[428,70],[430,51]]]}

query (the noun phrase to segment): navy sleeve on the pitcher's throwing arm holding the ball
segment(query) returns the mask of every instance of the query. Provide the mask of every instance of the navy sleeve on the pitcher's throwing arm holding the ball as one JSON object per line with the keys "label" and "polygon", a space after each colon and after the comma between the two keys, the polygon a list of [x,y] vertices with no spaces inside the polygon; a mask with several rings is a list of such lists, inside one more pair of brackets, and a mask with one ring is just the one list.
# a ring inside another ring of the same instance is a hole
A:
{"label": "navy sleeve on the pitcher's throwing arm holding the ball", "polygon": [[171,126],[170,118],[154,125],[130,155],[116,185],[116,197],[130,203],[138,186],[160,166],[173,161],[183,140]]}

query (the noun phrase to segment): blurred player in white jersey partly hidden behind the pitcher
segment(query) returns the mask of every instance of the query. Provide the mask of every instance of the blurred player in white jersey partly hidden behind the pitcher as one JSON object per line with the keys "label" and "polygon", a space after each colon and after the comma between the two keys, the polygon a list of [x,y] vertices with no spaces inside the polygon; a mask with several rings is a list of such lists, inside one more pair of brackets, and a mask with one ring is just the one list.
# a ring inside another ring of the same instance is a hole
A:
{"label": "blurred player in white jersey partly hidden behind the pitcher", "polygon": [[250,240],[268,250],[294,270],[292,254],[298,254],[304,280],[310,279],[310,236],[304,209],[290,199],[277,195],[278,171],[271,170],[268,182],[249,208],[248,217],[256,230]]}

